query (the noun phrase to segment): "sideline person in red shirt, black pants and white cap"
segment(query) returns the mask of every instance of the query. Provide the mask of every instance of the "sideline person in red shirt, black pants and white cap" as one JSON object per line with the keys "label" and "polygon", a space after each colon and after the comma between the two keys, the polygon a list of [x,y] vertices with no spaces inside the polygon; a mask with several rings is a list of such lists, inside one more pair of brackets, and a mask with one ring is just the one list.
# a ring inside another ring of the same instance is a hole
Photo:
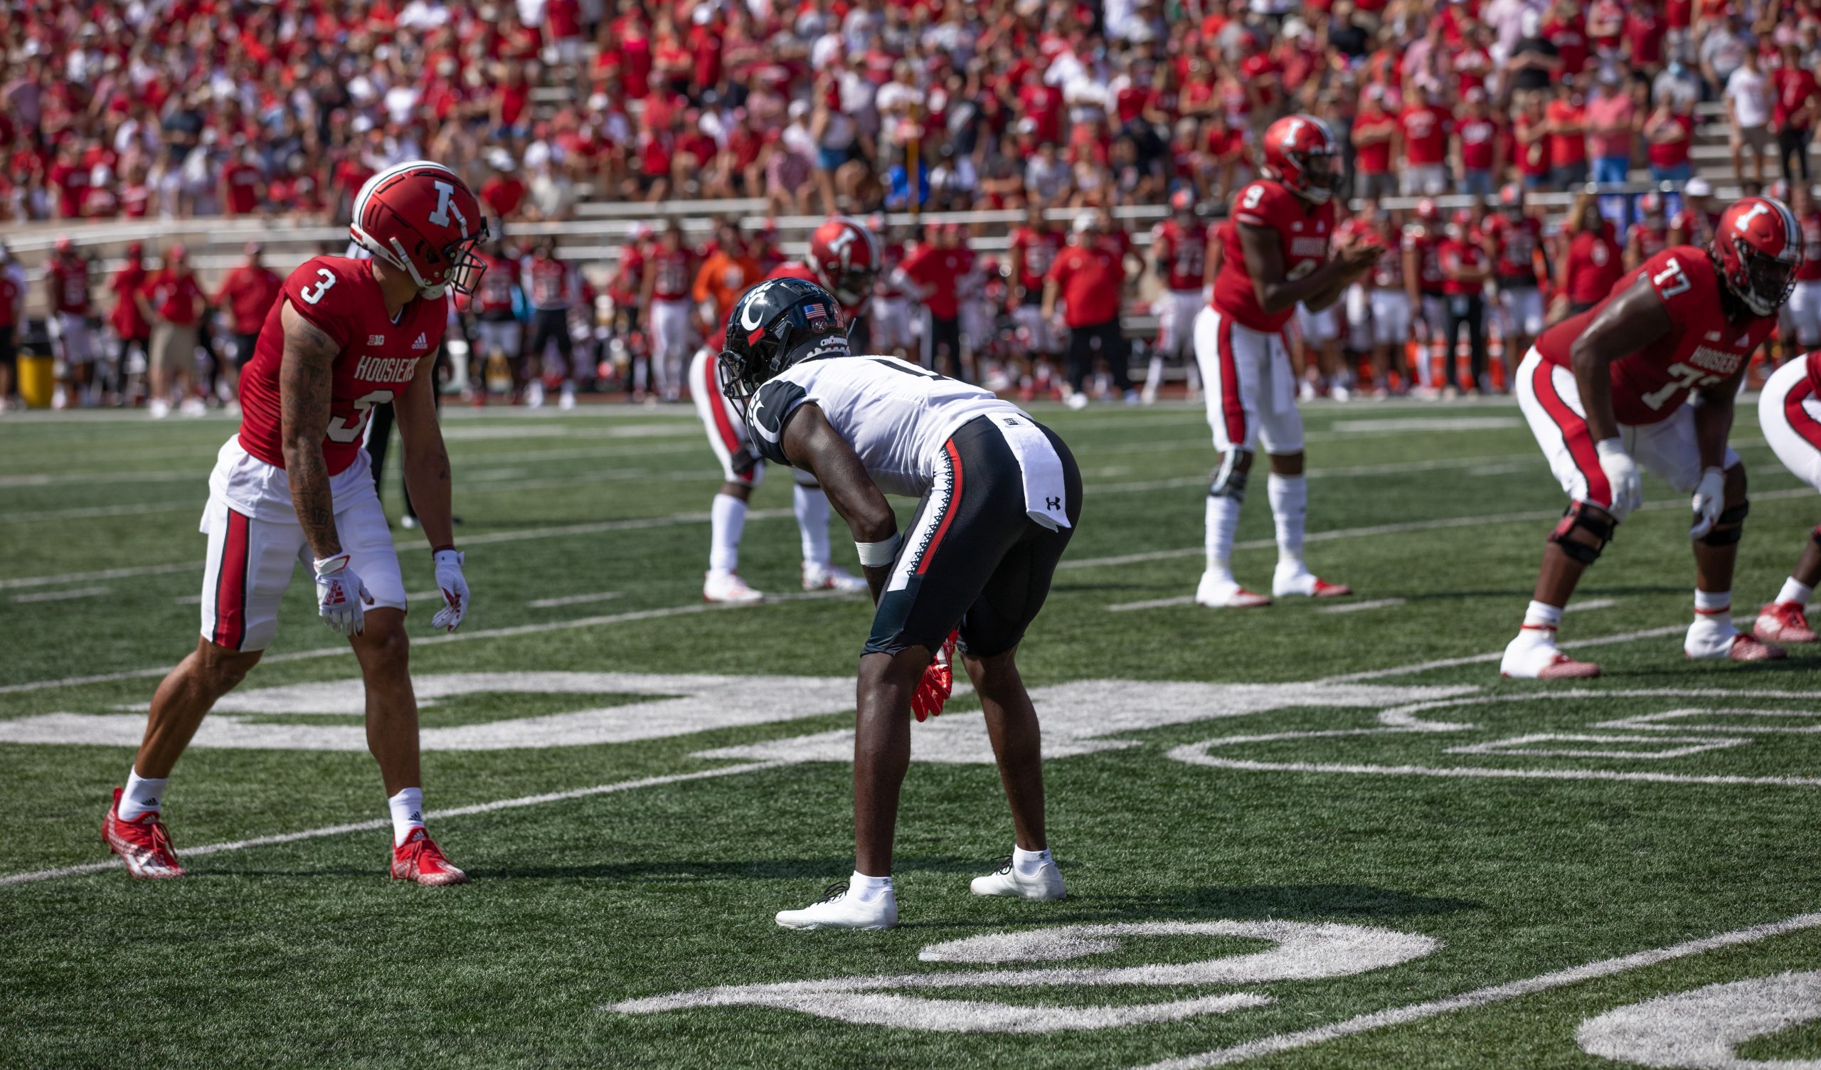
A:
{"label": "sideline person in red shirt, black pants and white cap", "polygon": [[1043,318],[1056,315],[1056,297],[1062,297],[1062,322],[1069,328],[1069,408],[1083,408],[1087,373],[1094,358],[1107,362],[1113,386],[1127,402],[1138,400],[1127,375],[1125,333],[1120,329],[1120,297],[1125,291],[1125,257],[1116,242],[1105,240],[1111,220],[1105,209],[1074,217],[1074,240],[1056,255],[1043,280]]}

